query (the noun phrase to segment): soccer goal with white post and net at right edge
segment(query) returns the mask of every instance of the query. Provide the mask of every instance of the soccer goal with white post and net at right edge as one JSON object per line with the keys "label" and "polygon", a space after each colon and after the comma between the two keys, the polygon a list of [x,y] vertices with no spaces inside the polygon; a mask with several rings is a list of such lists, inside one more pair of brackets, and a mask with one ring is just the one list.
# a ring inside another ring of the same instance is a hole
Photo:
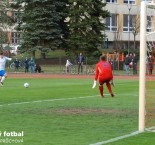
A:
{"label": "soccer goal with white post and net at right edge", "polygon": [[155,3],[141,2],[139,131],[155,127]]}

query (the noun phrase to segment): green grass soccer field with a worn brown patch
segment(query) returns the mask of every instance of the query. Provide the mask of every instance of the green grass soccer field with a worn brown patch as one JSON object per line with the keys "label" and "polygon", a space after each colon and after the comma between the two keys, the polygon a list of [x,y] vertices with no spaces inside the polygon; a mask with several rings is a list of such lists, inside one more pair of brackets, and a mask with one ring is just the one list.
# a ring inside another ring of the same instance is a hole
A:
{"label": "green grass soccer field with a worn brown patch", "polygon": [[130,136],[138,130],[138,80],[116,79],[116,97],[104,87],[103,99],[92,83],[93,77],[8,78],[0,87],[0,144],[154,145],[154,133]]}

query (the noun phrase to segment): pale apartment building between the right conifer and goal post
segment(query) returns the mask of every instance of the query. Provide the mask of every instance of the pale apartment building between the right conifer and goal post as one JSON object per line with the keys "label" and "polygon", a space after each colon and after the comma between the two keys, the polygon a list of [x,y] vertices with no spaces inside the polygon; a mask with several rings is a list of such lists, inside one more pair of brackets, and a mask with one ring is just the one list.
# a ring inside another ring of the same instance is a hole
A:
{"label": "pale apartment building between the right conifer and goal post", "polygon": [[106,47],[128,49],[128,51],[139,49],[141,0],[106,0],[105,2],[106,9],[111,14],[111,17],[105,20],[108,43]]}

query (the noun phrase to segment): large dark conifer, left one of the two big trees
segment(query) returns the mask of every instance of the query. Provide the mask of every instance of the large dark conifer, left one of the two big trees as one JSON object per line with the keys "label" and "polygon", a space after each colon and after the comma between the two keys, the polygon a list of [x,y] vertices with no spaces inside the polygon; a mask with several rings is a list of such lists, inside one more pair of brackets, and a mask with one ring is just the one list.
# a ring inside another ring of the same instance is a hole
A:
{"label": "large dark conifer, left one of the two big trees", "polygon": [[64,0],[17,0],[20,13],[17,30],[22,32],[21,45],[26,51],[40,50],[45,58],[47,50],[63,46],[66,14]]}

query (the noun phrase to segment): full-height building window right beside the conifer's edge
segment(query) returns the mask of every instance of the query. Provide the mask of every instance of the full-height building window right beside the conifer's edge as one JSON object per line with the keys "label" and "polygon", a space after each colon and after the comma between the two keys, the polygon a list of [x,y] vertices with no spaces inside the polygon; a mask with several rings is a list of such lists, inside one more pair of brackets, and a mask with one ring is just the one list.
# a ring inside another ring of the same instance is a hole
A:
{"label": "full-height building window right beside the conifer's edge", "polygon": [[117,15],[112,14],[111,17],[106,18],[106,30],[117,31]]}

